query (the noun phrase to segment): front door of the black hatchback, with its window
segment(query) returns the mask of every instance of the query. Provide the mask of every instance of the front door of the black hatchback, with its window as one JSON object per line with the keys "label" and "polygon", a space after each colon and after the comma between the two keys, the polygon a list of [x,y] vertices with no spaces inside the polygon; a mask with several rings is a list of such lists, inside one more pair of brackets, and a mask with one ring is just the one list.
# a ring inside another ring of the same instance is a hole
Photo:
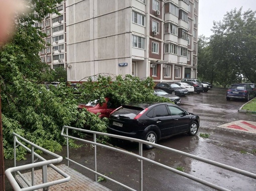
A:
{"label": "front door of the black hatchback, with its window", "polygon": [[183,109],[172,104],[168,104],[167,108],[173,119],[172,132],[177,134],[187,131],[190,122],[189,115]]}

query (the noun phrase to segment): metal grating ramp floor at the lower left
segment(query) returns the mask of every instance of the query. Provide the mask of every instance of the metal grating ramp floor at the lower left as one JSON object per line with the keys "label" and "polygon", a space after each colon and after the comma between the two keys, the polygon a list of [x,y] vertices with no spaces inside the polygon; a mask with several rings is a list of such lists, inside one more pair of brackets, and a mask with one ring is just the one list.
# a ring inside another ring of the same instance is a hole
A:
{"label": "metal grating ramp floor at the lower left", "polygon": [[[111,191],[107,187],[101,185],[100,183],[86,177],[85,175],[77,172],[76,170],[68,167],[65,164],[57,166],[59,169],[70,175],[70,181],[50,186],[49,190],[68,190],[68,191],[78,191],[78,190],[88,190],[88,191]],[[53,181],[63,178],[54,169],[48,167],[48,181]],[[31,182],[31,172],[26,172],[22,174],[26,179]],[[22,180],[22,178],[17,175],[17,181],[23,186],[27,187],[27,184]],[[35,170],[35,184],[42,183],[42,170]],[[43,190],[43,189],[39,189]]]}

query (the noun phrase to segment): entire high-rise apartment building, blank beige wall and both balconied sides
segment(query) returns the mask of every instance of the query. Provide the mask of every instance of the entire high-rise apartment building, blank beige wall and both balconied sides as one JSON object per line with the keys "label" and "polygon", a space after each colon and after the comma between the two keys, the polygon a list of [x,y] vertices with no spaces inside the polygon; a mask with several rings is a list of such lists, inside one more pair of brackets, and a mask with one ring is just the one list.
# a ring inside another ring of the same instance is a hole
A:
{"label": "entire high-rise apartment building, blank beige wall and both balconied sides", "polygon": [[68,81],[98,73],[197,77],[198,0],[64,0],[56,8],[61,15],[43,21],[40,56],[66,67]]}

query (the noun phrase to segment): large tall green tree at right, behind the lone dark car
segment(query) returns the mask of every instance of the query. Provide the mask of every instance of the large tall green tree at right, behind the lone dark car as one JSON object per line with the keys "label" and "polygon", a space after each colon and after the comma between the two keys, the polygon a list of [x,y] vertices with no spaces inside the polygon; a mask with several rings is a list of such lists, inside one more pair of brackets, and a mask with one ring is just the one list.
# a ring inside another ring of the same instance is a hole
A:
{"label": "large tall green tree at right, behind the lone dark car", "polygon": [[210,46],[216,62],[216,78],[224,84],[256,81],[255,11],[242,8],[227,12],[222,21],[214,22]]}

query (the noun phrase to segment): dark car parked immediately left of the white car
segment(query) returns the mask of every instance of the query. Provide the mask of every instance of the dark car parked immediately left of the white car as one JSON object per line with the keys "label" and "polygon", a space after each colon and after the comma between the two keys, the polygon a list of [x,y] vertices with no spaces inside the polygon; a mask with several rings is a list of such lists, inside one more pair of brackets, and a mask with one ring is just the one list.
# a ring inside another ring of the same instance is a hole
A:
{"label": "dark car parked immediately left of the white car", "polygon": [[175,83],[157,83],[155,86],[156,89],[162,89],[166,91],[167,93],[170,94],[175,94],[175,95],[186,95],[188,94],[188,90],[186,88],[180,87],[179,85]]}

